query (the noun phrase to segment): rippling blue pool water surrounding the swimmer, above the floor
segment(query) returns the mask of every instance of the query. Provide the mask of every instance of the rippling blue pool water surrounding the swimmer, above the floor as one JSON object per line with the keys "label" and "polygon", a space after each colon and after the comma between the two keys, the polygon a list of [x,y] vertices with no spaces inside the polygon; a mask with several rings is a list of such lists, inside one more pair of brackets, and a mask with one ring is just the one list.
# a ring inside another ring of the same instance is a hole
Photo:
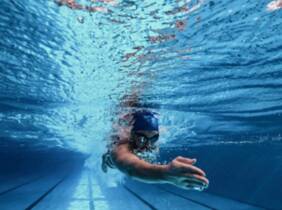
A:
{"label": "rippling blue pool water surrounding the swimmer, above the floor", "polygon": [[268,3],[1,0],[1,177],[97,167],[138,95],[159,114],[161,161],[197,157],[208,193],[282,209],[282,10]]}

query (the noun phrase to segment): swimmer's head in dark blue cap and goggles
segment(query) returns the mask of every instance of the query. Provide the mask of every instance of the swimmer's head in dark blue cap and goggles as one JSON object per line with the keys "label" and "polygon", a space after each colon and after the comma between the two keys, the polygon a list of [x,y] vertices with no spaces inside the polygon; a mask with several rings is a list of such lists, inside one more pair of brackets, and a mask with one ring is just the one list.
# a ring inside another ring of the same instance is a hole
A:
{"label": "swimmer's head in dark blue cap and goggles", "polygon": [[132,140],[138,149],[154,149],[159,139],[158,119],[152,112],[137,111],[133,114]]}

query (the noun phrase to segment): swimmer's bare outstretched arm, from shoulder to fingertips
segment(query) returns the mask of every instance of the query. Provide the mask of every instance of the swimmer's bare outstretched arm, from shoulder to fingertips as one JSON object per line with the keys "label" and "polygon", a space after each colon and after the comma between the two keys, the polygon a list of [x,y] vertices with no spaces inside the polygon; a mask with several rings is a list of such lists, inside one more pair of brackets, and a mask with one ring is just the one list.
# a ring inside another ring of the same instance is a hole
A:
{"label": "swimmer's bare outstretched arm, from shoulder to fingertips", "polygon": [[169,183],[198,190],[207,188],[209,183],[205,172],[193,165],[195,159],[177,157],[167,165],[150,164],[134,155],[129,144],[116,146],[111,155],[120,171],[143,182]]}

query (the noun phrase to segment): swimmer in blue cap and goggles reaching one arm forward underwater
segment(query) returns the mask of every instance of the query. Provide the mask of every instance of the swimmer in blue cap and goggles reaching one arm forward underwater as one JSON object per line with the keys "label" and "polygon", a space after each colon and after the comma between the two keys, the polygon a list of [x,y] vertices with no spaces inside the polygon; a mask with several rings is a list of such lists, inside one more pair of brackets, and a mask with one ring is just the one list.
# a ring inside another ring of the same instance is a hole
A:
{"label": "swimmer in blue cap and goggles reaching one arm forward underwater", "polygon": [[139,181],[169,183],[183,189],[203,190],[209,181],[196,159],[176,157],[169,164],[152,164],[138,157],[136,151],[157,149],[158,118],[148,110],[138,110],[120,119],[123,125],[114,136],[111,148],[102,156],[102,170],[117,168]]}

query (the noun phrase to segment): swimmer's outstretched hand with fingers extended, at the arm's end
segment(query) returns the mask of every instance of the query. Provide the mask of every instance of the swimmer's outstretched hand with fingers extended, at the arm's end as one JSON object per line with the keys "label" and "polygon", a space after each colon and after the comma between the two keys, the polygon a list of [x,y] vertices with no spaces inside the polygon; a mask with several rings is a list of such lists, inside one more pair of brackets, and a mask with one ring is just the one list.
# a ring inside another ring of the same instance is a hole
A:
{"label": "swimmer's outstretched hand with fingers extended, at the arm's end", "polygon": [[196,159],[181,156],[175,158],[167,165],[166,181],[183,189],[206,189],[209,181],[205,172],[194,166],[195,163]]}

